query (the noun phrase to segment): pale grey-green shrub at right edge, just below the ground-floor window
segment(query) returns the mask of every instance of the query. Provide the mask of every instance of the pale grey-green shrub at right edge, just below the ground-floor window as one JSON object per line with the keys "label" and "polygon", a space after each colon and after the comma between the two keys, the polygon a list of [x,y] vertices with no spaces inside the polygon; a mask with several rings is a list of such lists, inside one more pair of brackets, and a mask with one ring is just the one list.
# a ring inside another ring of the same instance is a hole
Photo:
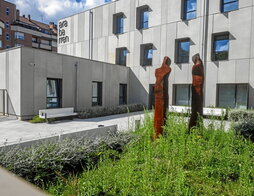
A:
{"label": "pale grey-green shrub at right edge, just below the ground-floor window", "polygon": [[254,119],[254,110],[230,110],[229,120],[232,121],[246,121]]}

